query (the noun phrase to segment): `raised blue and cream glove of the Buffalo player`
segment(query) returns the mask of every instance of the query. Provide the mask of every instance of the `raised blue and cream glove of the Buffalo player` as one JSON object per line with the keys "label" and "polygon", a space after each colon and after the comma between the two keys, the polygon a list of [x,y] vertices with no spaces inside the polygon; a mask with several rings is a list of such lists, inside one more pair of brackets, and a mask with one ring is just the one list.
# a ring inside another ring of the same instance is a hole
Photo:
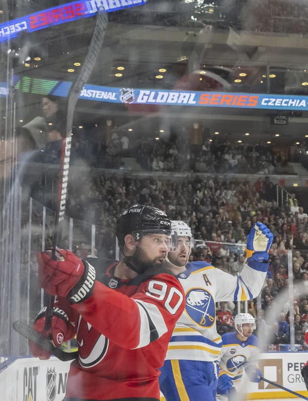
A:
{"label": "raised blue and cream glove of the Buffalo player", "polygon": [[246,242],[246,255],[249,260],[257,260],[263,262],[268,260],[268,250],[273,242],[273,234],[268,230],[266,225],[258,222],[255,223]]}

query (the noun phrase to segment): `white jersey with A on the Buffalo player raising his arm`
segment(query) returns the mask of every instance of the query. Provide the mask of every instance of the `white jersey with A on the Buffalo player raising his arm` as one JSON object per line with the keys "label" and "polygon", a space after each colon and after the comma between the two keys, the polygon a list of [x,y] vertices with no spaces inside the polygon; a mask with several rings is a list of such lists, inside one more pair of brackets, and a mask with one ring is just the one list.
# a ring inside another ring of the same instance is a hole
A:
{"label": "white jersey with A on the Buffalo player raising his arm", "polygon": [[249,261],[239,276],[205,262],[191,262],[178,275],[186,295],[185,310],[172,333],[165,359],[218,360],[222,347],[216,328],[218,301],[243,301],[258,296],[268,263]]}

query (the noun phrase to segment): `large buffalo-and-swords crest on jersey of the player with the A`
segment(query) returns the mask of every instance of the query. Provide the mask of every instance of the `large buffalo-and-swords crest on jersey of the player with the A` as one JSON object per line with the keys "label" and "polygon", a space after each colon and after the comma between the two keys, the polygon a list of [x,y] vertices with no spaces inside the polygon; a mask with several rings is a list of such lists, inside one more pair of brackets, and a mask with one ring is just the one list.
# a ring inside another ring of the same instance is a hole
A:
{"label": "large buffalo-and-swords crest on jersey of the player with the A", "polygon": [[211,294],[202,288],[194,288],[186,294],[186,313],[201,327],[215,323],[215,302]]}

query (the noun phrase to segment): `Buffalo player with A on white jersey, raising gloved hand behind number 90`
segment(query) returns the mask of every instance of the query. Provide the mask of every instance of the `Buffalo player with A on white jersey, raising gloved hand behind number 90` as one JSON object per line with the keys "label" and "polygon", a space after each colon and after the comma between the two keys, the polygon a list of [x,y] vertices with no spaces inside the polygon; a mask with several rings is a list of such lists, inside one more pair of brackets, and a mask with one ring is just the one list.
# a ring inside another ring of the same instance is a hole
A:
{"label": "Buffalo player with A on white jersey, raising gloved hand behind number 90", "polygon": [[247,235],[247,263],[234,277],[203,261],[187,263],[190,228],[182,221],[172,221],[172,230],[178,236],[178,249],[169,252],[168,259],[183,285],[186,306],[169,342],[160,389],[166,401],[214,401],[222,347],[215,302],[257,297],[266,277],[273,234],[264,224],[254,224]]}

